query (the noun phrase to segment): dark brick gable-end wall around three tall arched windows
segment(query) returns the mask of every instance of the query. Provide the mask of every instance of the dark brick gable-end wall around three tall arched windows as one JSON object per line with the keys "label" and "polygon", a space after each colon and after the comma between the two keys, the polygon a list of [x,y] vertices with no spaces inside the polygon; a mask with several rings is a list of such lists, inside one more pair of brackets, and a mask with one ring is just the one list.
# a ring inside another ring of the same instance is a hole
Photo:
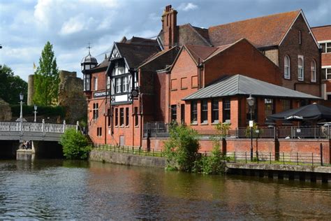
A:
{"label": "dark brick gable-end wall around three tall arched windows", "polygon": [[[299,44],[299,31],[302,33],[302,43]],[[284,57],[290,57],[290,80],[284,79]],[[304,56],[304,81],[297,80],[297,56]],[[316,61],[316,83],[311,83],[311,61]],[[307,94],[321,96],[321,57],[318,47],[314,42],[309,29],[304,22],[304,18],[300,15],[293,24],[290,31],[284,38],[284,41],[279,45],[279,69],[282,74],[282,85],[293,90],[300,90]],[[306,83],[307,86],[300,85],[296,87],[297,83]]]}

